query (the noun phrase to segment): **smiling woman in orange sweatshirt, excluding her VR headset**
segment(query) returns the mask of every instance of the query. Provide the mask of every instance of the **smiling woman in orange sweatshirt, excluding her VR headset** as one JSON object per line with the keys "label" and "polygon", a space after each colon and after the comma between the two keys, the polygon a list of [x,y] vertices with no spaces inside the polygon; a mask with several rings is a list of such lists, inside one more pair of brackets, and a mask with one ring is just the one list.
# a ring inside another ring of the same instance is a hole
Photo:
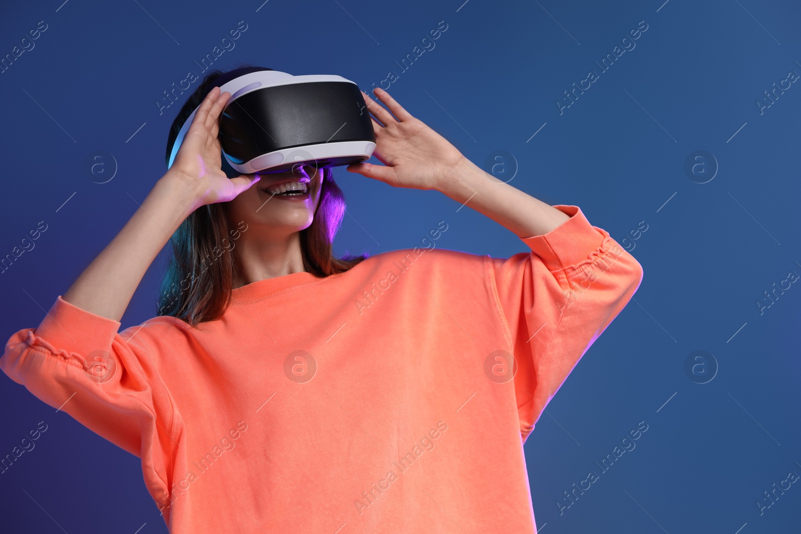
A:
{"label": "smiling woman in orange sweatshirt, excluding her VR headset", "polygon": [[[12,336],[3,371],[139,456],[175,534],[534,532],[523,443],[642,267],[578,207],[485,174],[380,89],[388,110],[363,95],[384,166],[347,170],[441,191],[530,250],[437,249],[440,221],[421,247],[336,259],[330,170],[223,173],[217,81],[237,73],[203,80],[174,165]],[[308,194],[280,195],[288,183]],[[171,235],[162,315],[119,332]]]}

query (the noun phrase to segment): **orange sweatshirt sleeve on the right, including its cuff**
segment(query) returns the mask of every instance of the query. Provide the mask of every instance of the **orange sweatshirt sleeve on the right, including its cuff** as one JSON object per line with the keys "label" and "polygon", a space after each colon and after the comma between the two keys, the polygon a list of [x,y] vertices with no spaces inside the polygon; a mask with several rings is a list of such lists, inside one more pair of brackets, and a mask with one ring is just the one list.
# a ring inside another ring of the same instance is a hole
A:
{"label": "orange sweatshirt sleeve on the right, including its cuff", "polygon": [[578,206],[554,206],[565,223],[521,238],[531,252],[490,258],[513,347],[514,387],[525,442],[567,375],[642,282],[642,266],[590,225]]}

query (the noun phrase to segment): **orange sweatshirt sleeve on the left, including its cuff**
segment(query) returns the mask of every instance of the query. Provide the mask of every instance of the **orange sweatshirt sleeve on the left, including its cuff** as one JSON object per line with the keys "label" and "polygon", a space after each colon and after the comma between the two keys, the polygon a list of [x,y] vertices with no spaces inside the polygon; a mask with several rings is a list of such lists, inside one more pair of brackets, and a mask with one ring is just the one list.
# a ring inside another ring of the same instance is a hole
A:
{"label": "orange sweatshirt sleeve on the left, including its cuff", "polygon": [[139,456],[147,488],[160,498],[167,494],[171,401],[148,354],[147,327],[118,333],[119,326],[59,295],[37,328],[11,336],[0,368],[38,399]]}

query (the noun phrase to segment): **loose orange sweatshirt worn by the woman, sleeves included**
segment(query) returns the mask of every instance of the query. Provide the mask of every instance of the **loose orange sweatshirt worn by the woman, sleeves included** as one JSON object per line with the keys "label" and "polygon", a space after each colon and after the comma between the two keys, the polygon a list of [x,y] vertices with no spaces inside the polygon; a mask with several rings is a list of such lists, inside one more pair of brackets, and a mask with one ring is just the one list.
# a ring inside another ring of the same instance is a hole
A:
{"label": "loose orange sweatshirt worn by the woman, sleeves included", "polygon": [[576,206],[508,259],[249,283],[199,330],[59,295],[0,367],[142,460],[173,534],[535,532],[523,443],[642,267]]}

